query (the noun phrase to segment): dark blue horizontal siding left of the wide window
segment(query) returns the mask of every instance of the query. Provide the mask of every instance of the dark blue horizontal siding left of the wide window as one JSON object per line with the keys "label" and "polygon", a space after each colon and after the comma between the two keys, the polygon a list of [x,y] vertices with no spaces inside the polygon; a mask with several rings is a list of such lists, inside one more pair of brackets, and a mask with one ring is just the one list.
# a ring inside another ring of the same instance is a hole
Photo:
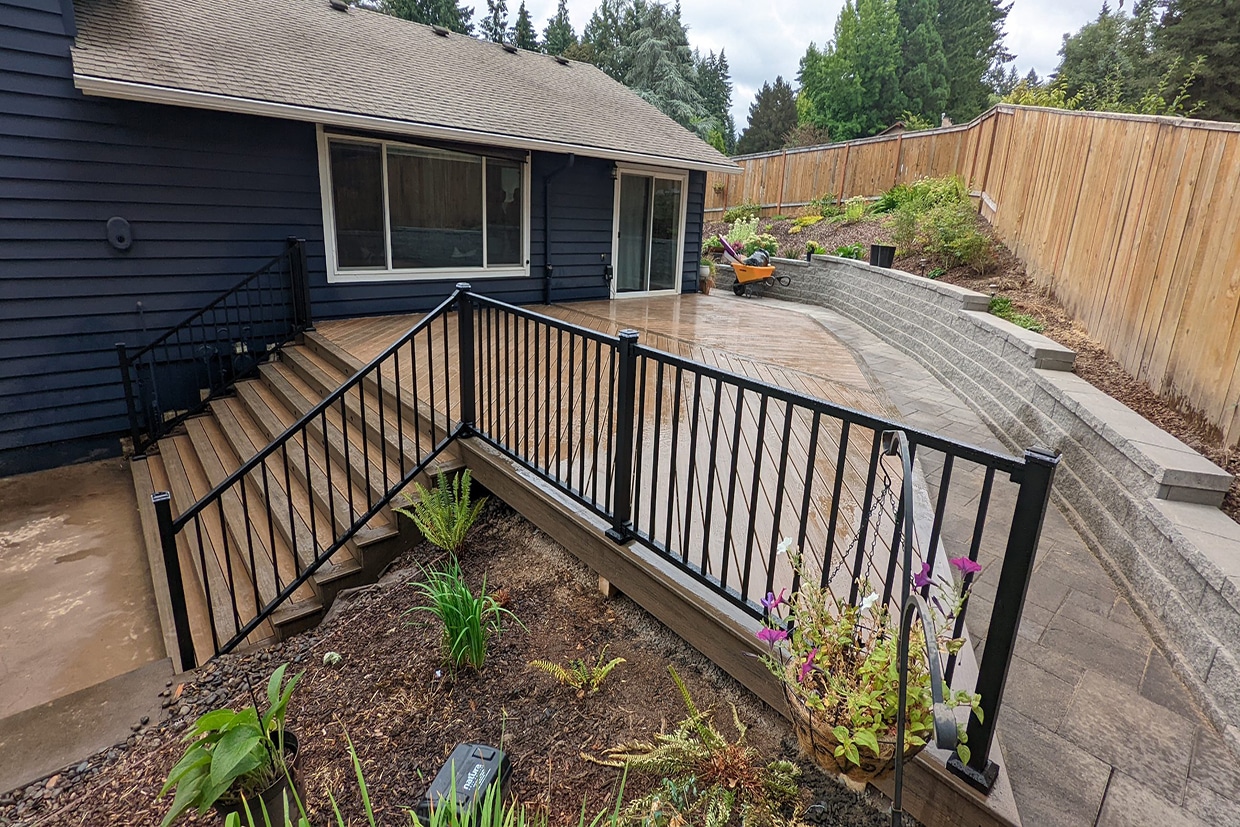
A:
{"label": "dark blue horizontal siding left of the wide window", "polygon": [[[115,343],[322,248],[314,126],[92,99],[60,0],[0,0],[0,475],[115,454]],[[112,216],[134,244],[104,239]]]}

